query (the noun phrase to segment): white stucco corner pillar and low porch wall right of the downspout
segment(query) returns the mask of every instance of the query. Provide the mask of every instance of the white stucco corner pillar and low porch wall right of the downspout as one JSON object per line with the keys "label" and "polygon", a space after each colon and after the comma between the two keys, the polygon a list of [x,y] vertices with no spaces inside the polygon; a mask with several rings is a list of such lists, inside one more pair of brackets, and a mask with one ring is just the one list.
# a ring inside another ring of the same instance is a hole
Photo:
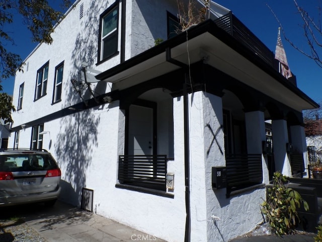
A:
{"label": "white stucco corner pillar and low porch wall right of the downspout", "polygon": [[265,189],[231,198],[226,198],[226,189],[212,189],[211,167],[225,166],[222,102],[204,92],[190,97],[191,236],[193,241],[228,241],[262,222]]}

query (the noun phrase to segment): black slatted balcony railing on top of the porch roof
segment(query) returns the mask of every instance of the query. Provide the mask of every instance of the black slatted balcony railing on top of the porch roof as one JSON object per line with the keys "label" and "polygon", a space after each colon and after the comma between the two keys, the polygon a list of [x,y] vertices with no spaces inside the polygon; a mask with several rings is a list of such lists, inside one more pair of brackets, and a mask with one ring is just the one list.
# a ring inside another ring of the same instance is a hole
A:
{"label": "black slatted balcony railing on top of the porch roof", "polygon": [[[279,71],[278,61],[275,59],[273,51],[271,51],[258,37],[256,37],[255,34],[240,22],[232,12],[214,20],[214,22],[219,28],[225,30],[240,43],[244,44],[245,47],[252,50],[268,65],[273,67],[276,71]],[[294,75],[292,75],[288,80],[296,86],[296,77]]]}

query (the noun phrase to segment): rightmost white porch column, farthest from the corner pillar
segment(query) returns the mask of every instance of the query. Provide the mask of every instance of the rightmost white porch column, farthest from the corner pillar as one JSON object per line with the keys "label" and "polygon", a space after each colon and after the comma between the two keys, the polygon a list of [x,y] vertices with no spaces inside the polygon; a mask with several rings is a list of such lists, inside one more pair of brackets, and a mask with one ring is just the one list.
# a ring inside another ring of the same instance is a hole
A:
{"label": "rightmost white porch column, farthest from the corner pillar", "polygon": [[[304,168],[307,169],[307,148],[304,127],[300,125],[290,126],[290,133],[292,137],[292,146],[296,151],[303,153]],[[305,170],[307,171],[307,170]]]}

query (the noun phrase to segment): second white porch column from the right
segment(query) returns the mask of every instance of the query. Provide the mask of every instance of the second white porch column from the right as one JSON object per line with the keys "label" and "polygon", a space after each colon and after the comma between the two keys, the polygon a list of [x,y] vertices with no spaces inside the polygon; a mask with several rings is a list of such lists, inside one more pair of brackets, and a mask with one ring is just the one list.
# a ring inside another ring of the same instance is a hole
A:
{"label": "second white porch column from the right", "polygon": [[276,171],[291,176],[291,164],[286,152],[286,144],[289,142],[286,120],[272,120],[272,134]]}

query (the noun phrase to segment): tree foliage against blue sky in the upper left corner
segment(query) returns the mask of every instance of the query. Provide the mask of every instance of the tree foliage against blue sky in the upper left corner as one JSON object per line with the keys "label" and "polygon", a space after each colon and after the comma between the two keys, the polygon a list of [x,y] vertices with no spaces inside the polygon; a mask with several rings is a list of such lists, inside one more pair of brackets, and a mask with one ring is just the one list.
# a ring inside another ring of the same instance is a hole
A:
{"label": "tree foliage against blue sky in the upper left corner", "polygon": [[[70,6],[70,0],[61,0],[61,8]],[[14,23],[15,16],[21,16],[23,23],[32,33],[33,42],[51,44],[50,36],[54,32],[54,25],[63,18],[63,13],[51,8],[46,0],[2,0],[0,2],[0,83],[13,77],[16,71],[22,71],[24,63],[18,53],[8,50],[8,44],[15,44],[11,36],[10,25]],[[29,40],[28,40],[29,41]],[[2,91],[0,84],[0,91]],[[8,101],[8,103],[6,103]],[[0,118],[12,122],[11,111],[14,111],[12,98],[2,94],[0,105]]]}

